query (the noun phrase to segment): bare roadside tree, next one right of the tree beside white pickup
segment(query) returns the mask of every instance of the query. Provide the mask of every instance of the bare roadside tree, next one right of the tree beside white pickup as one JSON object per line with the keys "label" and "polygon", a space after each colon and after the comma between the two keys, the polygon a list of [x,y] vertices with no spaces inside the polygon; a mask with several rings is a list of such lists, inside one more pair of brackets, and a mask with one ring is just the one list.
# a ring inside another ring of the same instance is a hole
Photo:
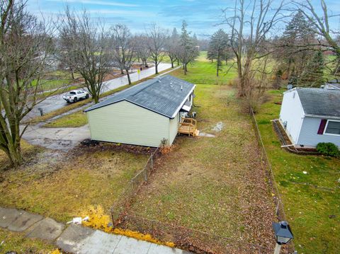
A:
{"label": "bare roadside tree, next one right of the tree beside white pickup", "polygon": [[135,55],[135,45],[132,35],[126,25],[114,25],[111,28],[111,39],[113,41],[113,59],[120,69],[126,71],[129,85],[131,84],[129,70],[132,67],[132,60]]}

